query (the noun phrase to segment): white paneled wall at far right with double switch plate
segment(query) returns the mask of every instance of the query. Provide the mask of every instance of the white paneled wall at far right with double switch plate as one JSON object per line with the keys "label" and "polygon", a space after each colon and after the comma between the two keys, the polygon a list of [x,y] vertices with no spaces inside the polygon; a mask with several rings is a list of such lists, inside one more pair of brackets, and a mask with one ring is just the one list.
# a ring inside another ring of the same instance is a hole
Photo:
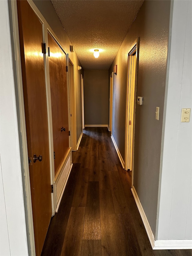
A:
{"label": "white paneled wall at far right with double switch plate", "polygon": [[192,107],[191,3],[173,2],[158,240],[192,239],[191,115],[190,122],[181,122],[182,108]]}

